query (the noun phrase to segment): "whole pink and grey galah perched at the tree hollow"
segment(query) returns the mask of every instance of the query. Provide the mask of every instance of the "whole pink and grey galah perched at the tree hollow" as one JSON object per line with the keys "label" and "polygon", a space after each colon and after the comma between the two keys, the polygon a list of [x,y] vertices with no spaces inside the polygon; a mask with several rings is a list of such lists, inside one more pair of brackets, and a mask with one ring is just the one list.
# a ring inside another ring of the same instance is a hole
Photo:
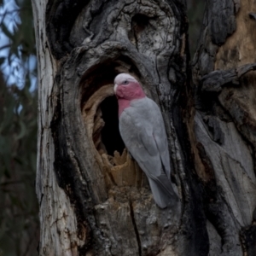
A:
{"label": "whole pink and grey galah perched at the tree hollow", "polygon": [[114,79],[119,102],[119,131],[125,147],[148,177],[154,201],[160,208],[177,202],[164,120],[158,105],[149,99],[137,79],[120,73]]}

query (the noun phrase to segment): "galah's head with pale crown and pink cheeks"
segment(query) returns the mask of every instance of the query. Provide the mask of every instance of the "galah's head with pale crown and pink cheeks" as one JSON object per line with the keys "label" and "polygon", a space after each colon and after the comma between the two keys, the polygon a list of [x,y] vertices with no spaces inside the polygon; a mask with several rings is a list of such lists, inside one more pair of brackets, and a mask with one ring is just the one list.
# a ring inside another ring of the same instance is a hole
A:
{"label": "galah's head with pale crown and pink cheeks", "polygon": [[128,73],[119,73],[114,79],[114,93],[118,99],[132,101],[145,97],[143,88],[138,83],[137,79]]}

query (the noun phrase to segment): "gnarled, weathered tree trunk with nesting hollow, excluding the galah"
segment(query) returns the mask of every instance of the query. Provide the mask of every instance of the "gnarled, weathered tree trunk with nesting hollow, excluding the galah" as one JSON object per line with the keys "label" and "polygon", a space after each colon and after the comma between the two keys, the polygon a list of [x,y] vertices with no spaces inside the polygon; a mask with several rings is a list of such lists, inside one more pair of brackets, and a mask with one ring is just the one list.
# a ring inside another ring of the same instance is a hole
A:
{"label": "gnarled, weathered tree trunk with nesting hollow, excluding the galah", "polygon": [[[40,255],[255,255],[253,1],[207,1],[192,68],[184,1],[45,2],[32,1]],[[174,207],[155,205],[119,136],[118,73],[160,106]]]}

